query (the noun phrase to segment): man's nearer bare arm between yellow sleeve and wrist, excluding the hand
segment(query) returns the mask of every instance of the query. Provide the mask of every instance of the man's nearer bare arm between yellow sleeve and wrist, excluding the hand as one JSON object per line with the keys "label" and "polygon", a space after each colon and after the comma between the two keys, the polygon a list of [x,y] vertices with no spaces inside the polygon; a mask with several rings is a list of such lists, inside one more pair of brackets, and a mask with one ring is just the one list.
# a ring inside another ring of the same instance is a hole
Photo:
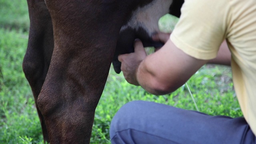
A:
{"label": "man's nearer bare arm between yellow sleeve and wrist, excluding the hand", "polygon": [[182,86],[206,62],[185,54],[169,39],[160,50],[140,63],[136,78],[148,92],[168,94]]}

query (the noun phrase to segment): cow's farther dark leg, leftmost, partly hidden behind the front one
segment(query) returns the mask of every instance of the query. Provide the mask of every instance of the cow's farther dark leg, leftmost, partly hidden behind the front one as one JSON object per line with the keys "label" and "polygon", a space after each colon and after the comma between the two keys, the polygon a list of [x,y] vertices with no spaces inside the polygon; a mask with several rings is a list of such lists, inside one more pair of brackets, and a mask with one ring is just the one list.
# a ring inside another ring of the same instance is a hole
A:
{"label": "cow's farther dark leg, leftmost, partly hidden behind the front one", "polygon": [[45,120],[38,109],[37,99],[48,72],[54,47],[52,21],[44,0],[28,0],[28,8],[30,32],[23,71],[34,95],[44,141],[49,142]]}

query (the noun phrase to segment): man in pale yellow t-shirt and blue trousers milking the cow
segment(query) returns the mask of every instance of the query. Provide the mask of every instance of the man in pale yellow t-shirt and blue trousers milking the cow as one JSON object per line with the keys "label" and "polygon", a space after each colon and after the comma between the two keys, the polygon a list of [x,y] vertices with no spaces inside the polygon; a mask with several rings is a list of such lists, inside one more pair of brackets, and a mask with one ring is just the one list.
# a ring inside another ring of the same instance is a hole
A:
{"label": "man in pale yellow t-shirt and blue trousers milking the cow", "polygon": [[111,122],[111,142],[256,144],[256,0],[185,0],[181,12],[170,39],[166,34],[154,36],[166,42],[160,50],[146,56],[136,40],[134,53],[118,57],[124,77],[130,84],[162,95],[182,86],[207,62],[231,63],[244,118],[129,102]]}

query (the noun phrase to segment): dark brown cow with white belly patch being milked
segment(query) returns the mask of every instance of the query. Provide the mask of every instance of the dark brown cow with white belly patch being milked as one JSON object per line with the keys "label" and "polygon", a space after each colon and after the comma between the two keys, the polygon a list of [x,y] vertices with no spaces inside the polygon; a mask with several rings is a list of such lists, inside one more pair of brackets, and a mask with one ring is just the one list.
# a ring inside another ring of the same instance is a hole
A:
{"label": "dark brown cow with white belly patch being milked", "polygon": [[[151,40],[158,19],[180,15],[183,0],[27,0],[30,16],[23,70],[32,88],[44,140],[89,143],[95,108],[110,64]],[[170,8],[170,10],[169,10]]]}

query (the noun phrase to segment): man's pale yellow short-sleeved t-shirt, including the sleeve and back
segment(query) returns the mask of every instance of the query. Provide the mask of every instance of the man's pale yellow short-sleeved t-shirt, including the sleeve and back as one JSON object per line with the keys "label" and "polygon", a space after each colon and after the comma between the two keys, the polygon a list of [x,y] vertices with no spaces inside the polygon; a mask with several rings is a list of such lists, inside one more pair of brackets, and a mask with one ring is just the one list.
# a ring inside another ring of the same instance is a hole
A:
{"label": "man's pale yellow short-sleeved t-shirt, including the sleeve and back", "polygon": [[185,0],[170,39],[186,54],[216,57],[226,39],[244,118],[256,135],[256,0]]}

